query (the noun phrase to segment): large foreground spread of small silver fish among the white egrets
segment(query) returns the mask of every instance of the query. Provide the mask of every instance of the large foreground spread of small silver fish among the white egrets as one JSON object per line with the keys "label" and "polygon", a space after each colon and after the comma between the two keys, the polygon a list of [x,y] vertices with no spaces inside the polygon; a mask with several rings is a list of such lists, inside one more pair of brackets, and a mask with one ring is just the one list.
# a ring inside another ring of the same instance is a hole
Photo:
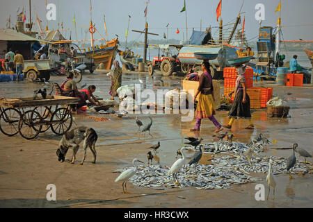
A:
{"label": "large foreground spread of small silver fish among the white egrets", "polygon": [[[249,174],[267,173],[269,157],[252,157],[248,162],[243,155],[237,157],[218,157],[212,162],[214,164],[189,166],[185,164],[177,173],[179,185],[174,182],[172,176],[168,176],[170,167],[160,165],[139,166],[136,174],[129,181],[139,187],[196,187],[197,189],[227,189],[232,184],[242,185],[248,182],[257,182],[264,178],[254,178]],[[284,157],[271,157],[273,160],[273,173],[286,173],[286,159]],[[122,172],[129,169],[118,169],[115,172]],[[307,173],[307,167],[296,162],[292,173]]]}

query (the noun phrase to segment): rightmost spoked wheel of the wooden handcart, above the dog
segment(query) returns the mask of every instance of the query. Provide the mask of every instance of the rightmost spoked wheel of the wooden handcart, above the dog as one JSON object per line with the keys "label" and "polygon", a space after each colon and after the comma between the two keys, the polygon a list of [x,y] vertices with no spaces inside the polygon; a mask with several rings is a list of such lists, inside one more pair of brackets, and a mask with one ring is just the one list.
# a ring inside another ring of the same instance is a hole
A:
{"label": "rightmost spoked wheel of the wooden handcart, above the dog", "polygon": [[58,108],[51,117],[51,130],[56,135],[63,135],[70,130],[73,123],[72,113],[67,108]]}

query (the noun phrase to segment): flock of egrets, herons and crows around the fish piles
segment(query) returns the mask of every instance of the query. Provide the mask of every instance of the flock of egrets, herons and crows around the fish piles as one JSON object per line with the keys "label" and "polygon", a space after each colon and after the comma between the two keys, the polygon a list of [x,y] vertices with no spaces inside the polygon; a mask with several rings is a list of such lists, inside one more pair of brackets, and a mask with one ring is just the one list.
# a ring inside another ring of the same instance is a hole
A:
{"label": "flock of egrets, herons and crows around the fish piles", "polygon": [[[138,117],[136,117],[136,124],[138,126],[138,130],[143,132],[148,131],[150,134],[150,128],[152,126],[152,118],[150,118],[150,122],[147,123],[147,125],[145,125],[143,127],[143,129],[141,129],[141,126],[143,126],[143,123],[141,122],[141,120],[138,119]],[[151,135],[151,134],[150,134]],[[151,135],[152,136],[152,135]],[[228,134],[228,132],[224,133],[224,134],[220,134],[220,135],[213,135],[213,137],[218,137],[219,141],[223,141],[224,138],[227,138],[227,142],[232,142],[232,139],[234,137],[234,135],[232,134]],[[195,137],[186,137],[185,139],[188,140],[188,142],[185,142],[184,144],[186,145],[190,145],[193,146],[193,148],[195,150],[197,150],[197,148],[199,149],[199,151],[197,151],[193,157],[191,157],[191,160],[188,162],[188,164],[191,166],[192,164],[194,165],[195,169],[197,164],[199,164],[199,161],[201,160],[202,154],[204,153],[204,146],[201,144],[202,142],[202,138],[198,139]],[[252,155],[255,153],[254,149],[255,146],[260,146],[260,144],[270,144],[269,140],[264,137],[262,135],[262,133],[260,133],[257,137],[252,137],[250,139],[250,142],[247,144],[249,146],[248,150],[243,153],[247,160],[251,160]],[[258,144],[258,145],[257,145]],[[151,146],[150,148],[153,149],[154,154],[157,152],[157,149],[161,146],[160,142],[158,142],[157,144]],[[182,148],[179,148],[177,150],[177,155],[176,158],[178,157],[178,155],[181,155],[181,158],[177,159],[173,164],[172,167],[170,167],[170,170],[168,171],[168,176],[172,175],[174,182],[179,185],[179,182],[177,180],[177,173],[179,172],[179,170],[184,166],[185,161],[186,161],[186,151],[190,150],[191,148],[184,146]],[[296,164],[296,155],[295,152],[297,152],[299,154],[299,157],[302,156],[305,158],[305,163],[306,163],[306,158],[307,157],[312,157],[312,155],[310,155],[310,153],[308,153],[307,151],[305,151],[305,149],[303,148],[298,148],[298,144],[294,144],[293,147],[293,153],[291,154],[291,156],[289,156],[287,158],[287,163],[286,163],[286,169],[289,172],[289,178],[291,179],[291,172],[290,169],[292,167],[294,167],[294,165]],[[148,159],[148,164],[152,164],[152,160],[154,158],[154,155],[152,154],[152,151],[149,151],[147,153],[147,159]],[[137,171],[137,165],[136,162],[141,162],[140,160],[134,159],[133,160],[133,165],[134,168],[131,169],[127,169],[126,171],[122,172],[120,174],[120,176],[118,176],[118,178],[116,178],[115,182],[118,181],[123,181],[122,183],[122,187],[123,187],[123,191],[125,193],[125,189],[126,189],[126,183],[129,180],[129,178],[131,178],[131,176],[134,176],[134,174]],[[143,162],[142,162],[143,163]],[[271,158],[269,158],[269,168],[268,168],[268,174],[266,176],[266,182],[268,183],[268,196],[270,193],[270,188],[273,187],[273,199],[275,198],[275,187],[277,185],[277,179],[275,178],[275,176],[273,175],[273,170],[271,168],[273,164],[273,160],[271,160]],[[196,171],[195,171],[196,172]],[[125,189],[124,189],[125,187]],[[267,199],[268,199],[267,196]]]}

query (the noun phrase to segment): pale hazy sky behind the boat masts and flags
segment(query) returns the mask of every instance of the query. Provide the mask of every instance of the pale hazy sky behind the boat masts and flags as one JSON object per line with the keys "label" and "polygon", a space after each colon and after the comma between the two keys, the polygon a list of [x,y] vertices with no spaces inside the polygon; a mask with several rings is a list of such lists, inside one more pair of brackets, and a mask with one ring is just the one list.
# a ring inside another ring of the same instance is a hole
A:
{"label": "pale hazy sky behind the boat masts and flags", "polygon": [[[56,21],[48,23],[49,29],[58,28],[58,23],[63,22],[65,28],[72,29],[72,40],[75,39],[74,24],[72,19],[76,15],[77,27],[88,26],[90,24],[90,1],[89,0],[47,0],[48,3],[56,4]],[[192,28],[200,31],[200,19],[202,19],[202,31],[208,26],[218,26],[216,22],[216,7],[219,0],[186,0],[186,10],[188,17],[188,37],[191,36]],[[223,24],[231,22],[236,18],[241,8],[243,0],[222,0]],[[106,27],[108,29],[108,39],[111,40],[115,34],[120,36],[120,41],[125,41],[125,31],[128,24],[128,15],[131,15],[129,24],[128,41],[143,40],[140,33],[131,32],[132,29],[141,30],[145,28],[145,1],[144,0],[92,0],[93,3],[93,22],[96,28],[106,37],[103,24],[103,16],[106,17]],[[246,17],[246,36],[251,39],[258,35],[259,23],[255,20],[255,5],[263,3],[265,6],[265,20],[262,26],[276,26],[279,12],[274,12],[279,0],[246,0],[243,3],[241,12]],[[15,24],[17,8],[26,10],[26,21],[29,21],[29,0],[5,0],[1,2],[0,8],[0,27],[6,26],[6,19],[11,15],[11,21]],[[35,10],[38,17],[42,20],[42,26],[47,25],[45,18],[45,0],[32,0],[32,16]],[[150,36],[153,39],[162,39],[166,33],[166,25],[169,23],[168,38],[182,40],[182,33],[186,36],[186,17],[185,12],[180,12],[184,6],[184,0],[150,0],[147,10],[147,22],[149,31],[158,33],[159,36]],[[312,0],[282,0],[282,26],[292,26],[282,28],[284,40],[312,40],[313,26],[293,26],[312,24]],[[243,16],[242,15],[242,16]],[[242,20],[243,21],[243,20]],[[35,19],[33,19],[35,22]],[[242,26],[242,23],[239,25]],[[176,30],[180,33],[177,35]],[[38,31],[38,26],[36,28]],[[77,39],[90,38],[90,34],[85,34],[86,28],[77,28]],[[216,28],[212,28],[212,33]],[[62,31],[65,35],[65,31]],[[66,32],[69,38],[70,31]],[[95,34],[95,38],[100,37]]]}

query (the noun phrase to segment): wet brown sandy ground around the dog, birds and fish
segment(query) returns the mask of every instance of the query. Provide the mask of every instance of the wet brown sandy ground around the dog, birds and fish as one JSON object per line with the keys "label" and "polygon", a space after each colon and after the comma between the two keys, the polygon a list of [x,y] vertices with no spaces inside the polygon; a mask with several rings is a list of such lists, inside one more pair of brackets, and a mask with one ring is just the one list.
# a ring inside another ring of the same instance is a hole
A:
{"label": "wet brown sandy ground around the dog, birds and fish", "polygon": [[[52,76],[51,80],[61,83],[61,76]],[[143,80],[146,88],[172,89],[180,87],[182,77],[162,77],[155,74],[125,74],[123,85],[139,83]],[[105,74],[84,74],[84,83],[96,85],[98,96],[109,99],[110,80]],[[252,113],[255,130],[245,130],[246,121],[236,121],[232,128],[234,140],[248,142],[252,135],[263,133],[275,144],[268,146],[262,155],[288,157],[291,150],[275,150],[272,148],[288,147],[297,142],[300,147],[313,153],[313,87],[281,87],[273,83],[256,83],[273,87],[273,94],[286,96],[291,106],[291,118],[278,119],[266,116],[266,110]],[[0,83],[0,96],[15,98],[32,96],[33,90],[41,87],[40,83]],[[223,90],[223,89],[222,89]],[[291,92],[291,95],[287,95]],[[95,122],[89,116],[108,117],[111,121]],[[143,122],[146,114],[137,114]],[[154,137],[143,137],[138,133],[135,114],[127,114],[118,118],[115,115],[81,114],[74,116],[74,126],[90,126],[95,128],[99,139],[97,142],[97,162],[92,164],[93,155],[88,150],[83,166],[79,165],[83,155],[78,151],[77,161],[58,162],[56,149],[61,136],[51,130],[40,134],[36,139],[26,140],[19,134],[6,137],[0,133],[0,207],[313,207],[312,174],[295,175],[289,180],[287,174],[278,175],[278,186],[275,200],[255,200],[256,183],[234,186],[232,189],[200,190],[194,187],[183,189],[146,189],[127,184],[129,194],[122,193],[122,182],[114,182],[118,173],[116,169],[131,166],[136,157],[147,163],[146,153],[152,144],[161,142],[157,153],[160,164],[170,166],[175,162],[177,148],[181,147],[184,137],[202,137],[204,142],[213,142],[214,126],[205,120],[199,134],[189,132],[195,124],[181,122],[178,114],[152,114],[154,123],[151,133]],[[227,122],[227,111],[218,111],[216,119]],[[73,126],[73,127],[74,127]],[[72,157],[72,151],[67,159]],[[298,158],[298,155],[296,155]],[[312,159],[308,159],[312,162]],[[154,164],[157,164],[154,162]],[[263,178],[266,187],[266,174],[257,175]],[[48,201],[47,185],[56,185],[56,201]],[[267,194],[267,193],[266,193]]]}

